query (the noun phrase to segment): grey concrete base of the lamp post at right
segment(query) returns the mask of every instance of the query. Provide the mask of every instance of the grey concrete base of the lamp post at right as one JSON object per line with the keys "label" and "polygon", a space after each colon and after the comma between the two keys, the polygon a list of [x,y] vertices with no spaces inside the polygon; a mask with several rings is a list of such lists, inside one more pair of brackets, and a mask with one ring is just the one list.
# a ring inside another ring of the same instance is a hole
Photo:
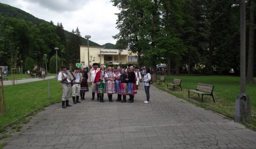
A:
{"label": "grey concrete base of the lamp post at right", "polygon": [[239,94],[236,99],[235,122],[251,121],[250,97],[246,94]]}

